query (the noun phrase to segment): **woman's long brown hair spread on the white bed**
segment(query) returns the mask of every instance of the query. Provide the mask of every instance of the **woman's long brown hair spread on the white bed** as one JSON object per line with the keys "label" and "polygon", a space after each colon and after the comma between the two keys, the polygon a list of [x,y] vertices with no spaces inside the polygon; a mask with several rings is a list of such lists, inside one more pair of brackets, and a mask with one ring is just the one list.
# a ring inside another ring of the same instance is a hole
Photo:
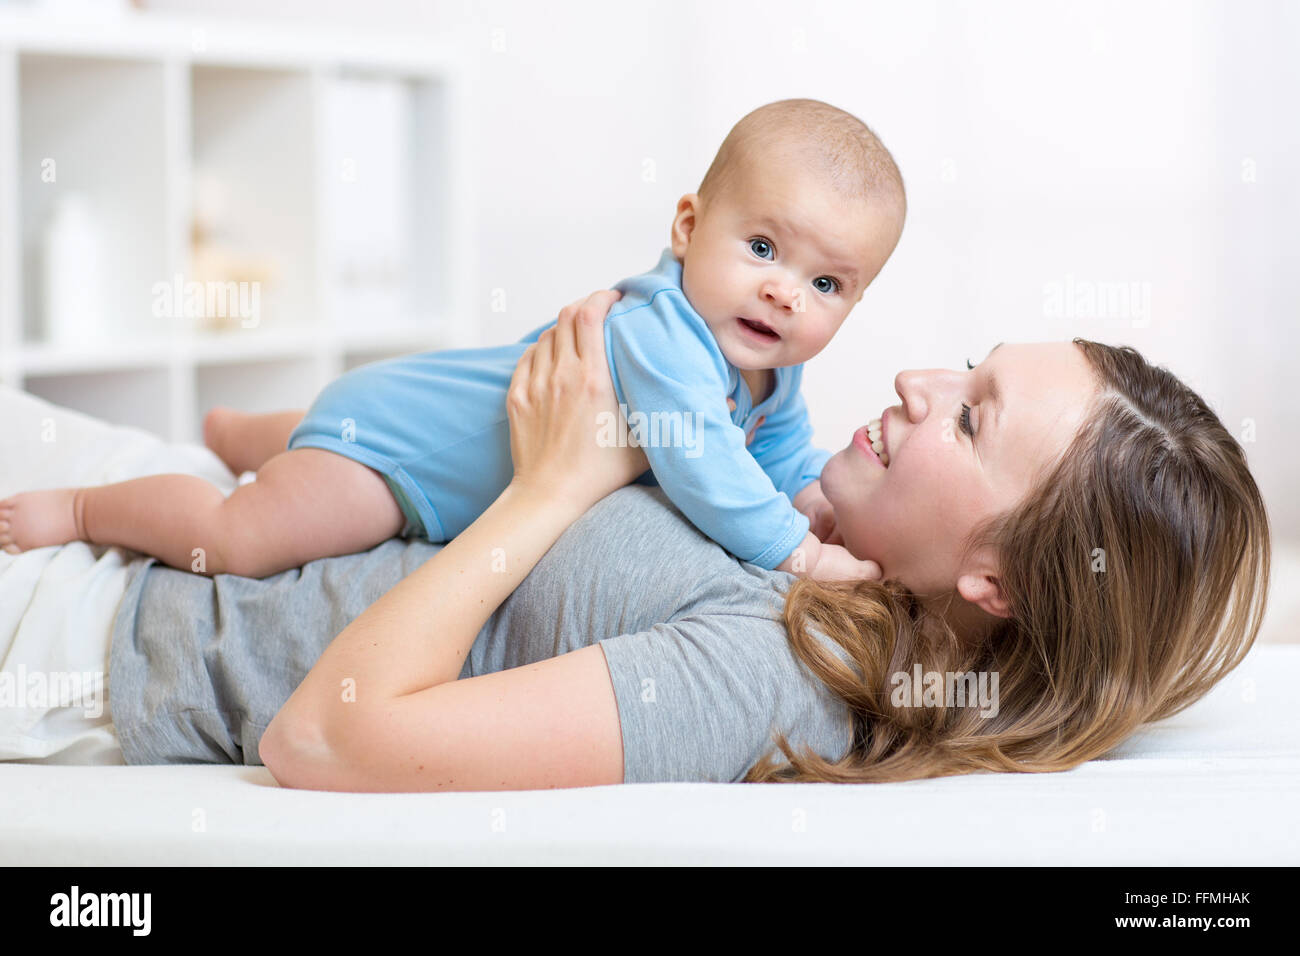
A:
{"label": "woman's long brown hair spread on the white bed", "polygon": [[[798,580],[796,656],[853,715],[838,761],[783,734],[749,782],[876,783],[1069,770],[1187,708],[1251,649],[1269,523],[1242,446],[1173,373],[1076,338],[1100,382],[1061,460],[971,545],[1000,555],[1011,617],[961,640],[896,581]],[[831,639],[824,644],[814,632]],[[896,704],[894,675],[996,672],[997,711]]]}

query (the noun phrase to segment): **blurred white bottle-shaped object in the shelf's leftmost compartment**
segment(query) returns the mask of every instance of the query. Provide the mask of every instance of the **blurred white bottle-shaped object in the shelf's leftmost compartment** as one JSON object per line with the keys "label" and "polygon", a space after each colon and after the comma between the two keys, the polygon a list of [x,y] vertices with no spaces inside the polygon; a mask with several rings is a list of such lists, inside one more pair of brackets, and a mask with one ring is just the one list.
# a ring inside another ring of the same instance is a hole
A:
{"label": "blurred white bottle-shaped object in the shelf's leftmost compartment", "polygon": [[53,200],[42,241],[42,336],[57,345],[104,338],[104,234],[81,193]]}

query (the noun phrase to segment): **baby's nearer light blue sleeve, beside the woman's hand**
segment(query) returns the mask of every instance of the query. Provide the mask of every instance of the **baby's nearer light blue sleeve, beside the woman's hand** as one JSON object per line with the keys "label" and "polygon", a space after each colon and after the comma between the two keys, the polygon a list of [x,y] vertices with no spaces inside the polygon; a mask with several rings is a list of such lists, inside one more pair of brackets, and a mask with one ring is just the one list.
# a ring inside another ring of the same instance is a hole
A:
{"label": "baby's nearer light blue sleeve, beside the woman's hand", "polygon": [[741,561],[785,561],[809,520],[745,447],[727,410],[727,360],[685,294],[662,289],[611,315],[604,334],[628,424],[640,414],[647,425],[646,459],[672,503]]}

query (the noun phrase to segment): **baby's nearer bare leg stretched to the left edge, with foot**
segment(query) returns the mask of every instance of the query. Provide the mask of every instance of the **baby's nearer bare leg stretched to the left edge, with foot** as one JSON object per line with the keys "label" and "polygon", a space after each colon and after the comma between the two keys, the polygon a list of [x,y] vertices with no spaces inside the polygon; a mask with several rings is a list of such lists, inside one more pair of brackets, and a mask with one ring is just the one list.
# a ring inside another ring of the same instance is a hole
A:
{"label": "baby's nearer bare leg stretched to the left edge, with foot", "polygon": [[[276,455],[229,498],[194,475],[153,475],[26,492],[4,507],[6,532],[22,549],[79,538],[144,551],[183,571],[248,578],[367,550],[406,522],[378,472],[321,449]],[[46,527],[36,527],[42,520]]]}

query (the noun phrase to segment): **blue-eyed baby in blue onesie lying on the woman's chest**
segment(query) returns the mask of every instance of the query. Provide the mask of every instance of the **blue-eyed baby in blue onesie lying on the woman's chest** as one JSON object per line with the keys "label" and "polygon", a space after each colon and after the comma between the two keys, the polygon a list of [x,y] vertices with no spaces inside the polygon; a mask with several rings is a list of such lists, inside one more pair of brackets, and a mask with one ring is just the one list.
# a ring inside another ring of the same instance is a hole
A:
{"label": "blue-eyed baby in blue onesie lying on the woman's chest", "polygon": [[[659,264],[615,286],[606,354],[650,464],[641,480],[742,561],[826,580],[874,567],[812,531],[833,531],[818,480],[829,453],[810,445],[800,384],[893,252],[905,208],[893,159],[859,120],[771,103],[677,202]],[[229,498],[190,475],[25,492],[0,501],[0,548],[83,540],[263,578],[398,533],[448,541],[511,480],[506,390],[551,325],[352,369],[300,420],[209,415],[207,444],[256,481]]]}

